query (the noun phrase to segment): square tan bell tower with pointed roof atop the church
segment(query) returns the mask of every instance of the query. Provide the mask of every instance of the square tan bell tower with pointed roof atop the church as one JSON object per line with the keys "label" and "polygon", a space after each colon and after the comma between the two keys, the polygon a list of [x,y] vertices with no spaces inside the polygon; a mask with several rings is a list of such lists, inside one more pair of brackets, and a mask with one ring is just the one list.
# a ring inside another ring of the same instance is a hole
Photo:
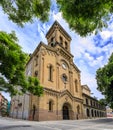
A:
{"label": "square tan bell tower with pointed roof atop the church", "polygon": [[71,37],[57,21],[53,23],[47,32],[46,38],[49,46],[55,47],[56,44],[59,44],[66,51],[70,52]]}

